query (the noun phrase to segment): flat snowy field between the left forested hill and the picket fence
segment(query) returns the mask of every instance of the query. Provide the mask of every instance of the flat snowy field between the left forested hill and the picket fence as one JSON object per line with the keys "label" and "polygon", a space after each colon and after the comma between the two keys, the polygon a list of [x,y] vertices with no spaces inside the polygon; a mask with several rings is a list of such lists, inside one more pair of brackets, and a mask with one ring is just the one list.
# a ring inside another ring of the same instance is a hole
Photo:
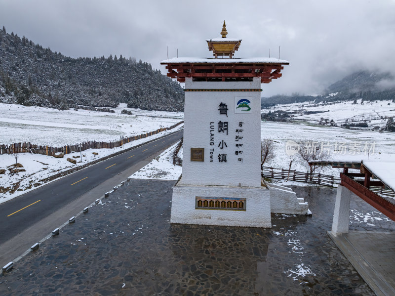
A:
{"label": "flat snowy field between the left forested hill and the picket fence", "polygon": [[[0,144],[30,141],[55,147],[85,141],[115,141],[120,136],[169,127],[184,118],[183,112],[131,109],[126,104],[110,109],[115,113],[0,104]],[[121,114],[123,109],[133,115]]]}

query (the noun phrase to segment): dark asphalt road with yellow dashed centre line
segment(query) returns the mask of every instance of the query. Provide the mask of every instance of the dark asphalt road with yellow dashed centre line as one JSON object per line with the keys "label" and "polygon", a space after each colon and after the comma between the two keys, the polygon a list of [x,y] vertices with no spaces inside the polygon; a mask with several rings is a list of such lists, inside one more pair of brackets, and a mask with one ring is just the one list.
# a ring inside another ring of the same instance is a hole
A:
{"label": "dark asphalt road with yellow dashed centre line", "polygon": [[[183,131],[176,132],[0,204],[0,245],[106,180],[144,159],[154,157],[182,136]],[[58,226],[60,224],[53,225],[53,228]]]}

